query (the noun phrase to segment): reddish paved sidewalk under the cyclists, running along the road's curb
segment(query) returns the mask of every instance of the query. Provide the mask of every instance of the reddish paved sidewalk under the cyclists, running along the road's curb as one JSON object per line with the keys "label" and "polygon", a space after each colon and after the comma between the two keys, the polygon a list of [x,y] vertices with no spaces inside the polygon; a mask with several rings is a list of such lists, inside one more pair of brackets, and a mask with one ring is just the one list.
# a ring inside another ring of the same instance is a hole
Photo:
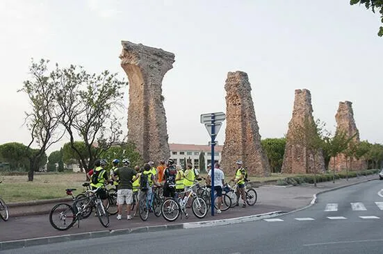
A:
{"label": "reddish paved sidewalk under the cyclists, running along the road's curb", "polygon": [[[179,223],[189,223],[189,222],[201,222],[201,221],[214,221],[222,219],[231,219],[238,217],[250,217],[255,214],[265,214],[275,211],[291,212],[293,210],[298,210],[309,205],[313,200],[313,195],[320,192],[327,192],[334,188],[345,187],[348,185],[353,185],[356,183],[361,183],[366,180],[378,179],[377,174],[370,176],[360,176],[359,178],[350,178],[350,180],[336,180],[335,183],[325,182],[318,183],[317,187],[313,185],[299,185],[299,186],[273,186],[273,185],[263,185],[259,188],[256,188],[258,194],[258,201],[252,207],[247,206],[247,208],[235,207],[231,208],[222,214],[215,214],[214,217],[211,217],[210,211],[204,219],[197,219],[191,209],[188,210],[190,217],[185,219],[177,219],[173,223],[165,221],[163,217],[155,217],[154,214],[149,214],[149,219],[147,221],[141,221],[140,217],[134,217],[133,220],[127,221],[123,219],[122,221],[117,221],[115,216],[111,216],[111,223],[108,228],[104,228],[99,223],[97,217],[93,215],[88,218],[80,221],[80,227],[77,227],[77,223],[73,228],[70,228],[66,231],[55,230],[49,223],[48,214],[35,215],[35,216],[26,216],[26,217],[11,217],[9,221],[0,221],[0,244],[6,244],[8,241],[15,241],[20,239],[31,239],[37,237],[56,237],[63,236],[68,234],[75,234],[76,239],[90,238],[90,232],[97,231],[106,231],[109,230],[131,230],[133,228],[153,227],[159,228],[161,225],[167,225],[169,228],[177,228]],[[53,207],[53,205],[52,205]],[[126,218],[124,216],[124,218]],[[234,220],[230,220],[234,221]],[[88,237],[86,236],[88,234]],[[66,239],[70,239],[67,237]],[[64,239],[65,240],[65,239]],[[15,242],[19,244],[20,241]],[[10,244],[9,242],[7,244]]]}

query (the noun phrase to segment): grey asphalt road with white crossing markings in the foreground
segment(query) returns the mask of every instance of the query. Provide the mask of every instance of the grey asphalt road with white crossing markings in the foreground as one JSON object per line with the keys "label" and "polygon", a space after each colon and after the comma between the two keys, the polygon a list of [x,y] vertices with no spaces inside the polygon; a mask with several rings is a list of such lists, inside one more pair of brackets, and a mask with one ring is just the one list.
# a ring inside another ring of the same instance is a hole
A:
{"label": "grey asphalt road with white crossing markings in the foreground", "polygon": [[306,210],[251,223],[120,235],[3,253],[383,253],[381,189],[382,181],[361,183],[321,194]]}

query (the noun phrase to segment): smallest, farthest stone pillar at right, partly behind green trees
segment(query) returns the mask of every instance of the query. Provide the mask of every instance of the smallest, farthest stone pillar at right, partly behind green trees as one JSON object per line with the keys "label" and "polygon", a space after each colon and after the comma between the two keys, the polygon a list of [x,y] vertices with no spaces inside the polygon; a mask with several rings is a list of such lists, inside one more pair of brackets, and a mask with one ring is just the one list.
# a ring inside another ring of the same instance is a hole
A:
{"label": "smallest, farthest stone pillar at right, partly behind green trees", "polygon": [[[351,101],[340,101],[339,102],[339,108],[335,115],[336,119],[336,131],[343,131],[347,137],[353,137],[352,142],[355,142],[358,144],[360,142],[359,138],[359,130],[357,129],[357,125],[355,124],[354,119],[354,112],[352,110],[352,102]],[[329,169],[334,169],[336,171],[341,171],[343,169],[350,169],[350,170],[362,170],[367,169],[366,161],[361,159],[357,160],[356,158],[352,158],[352,163],[350,168],[350,158],[347,159],[344,155],[344,153],[341,153],[335,157],[335,163],[334,158],[331,158],[329,161]]]}

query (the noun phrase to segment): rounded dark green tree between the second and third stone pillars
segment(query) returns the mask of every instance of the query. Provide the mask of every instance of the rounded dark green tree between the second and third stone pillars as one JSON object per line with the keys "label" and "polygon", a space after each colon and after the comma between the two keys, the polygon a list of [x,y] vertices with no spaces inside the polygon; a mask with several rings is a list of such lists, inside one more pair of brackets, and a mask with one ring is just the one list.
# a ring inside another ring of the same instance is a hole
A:
{"label": "rounded dark green tree between the second and third stone pillars", "polygon": [[286,138],[267,138],[261,140],[263,151],[268,156],[272,173],[281,171],[282,163],[284,160],[284,149],[286,146]]}

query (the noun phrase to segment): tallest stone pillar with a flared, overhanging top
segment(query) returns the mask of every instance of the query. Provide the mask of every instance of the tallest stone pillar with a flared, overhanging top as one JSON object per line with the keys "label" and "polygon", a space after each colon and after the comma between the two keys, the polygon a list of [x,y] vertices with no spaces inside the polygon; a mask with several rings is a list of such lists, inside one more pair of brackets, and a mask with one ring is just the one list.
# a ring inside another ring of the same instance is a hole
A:
{"label": "tallest stone pillar with a flared, overhanging top", "polygon": [[162,80],[173,67],[174,53],[122,41],[121,67],[129,78],[128,140],[145,162],[170,155]]}

